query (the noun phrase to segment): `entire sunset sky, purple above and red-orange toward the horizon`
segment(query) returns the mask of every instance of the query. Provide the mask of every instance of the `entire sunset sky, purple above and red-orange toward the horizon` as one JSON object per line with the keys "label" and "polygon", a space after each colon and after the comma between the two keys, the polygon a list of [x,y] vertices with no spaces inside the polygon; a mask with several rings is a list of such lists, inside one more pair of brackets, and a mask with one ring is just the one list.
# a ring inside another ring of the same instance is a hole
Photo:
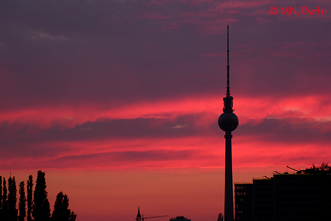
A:
{"label": "entire sunset sky, purple above and red-orange toward the horizon", "polygon": [[77,221],[217,221],[227,25],[233,181],[331,163],[331,1],[1,0],[0,175]]}

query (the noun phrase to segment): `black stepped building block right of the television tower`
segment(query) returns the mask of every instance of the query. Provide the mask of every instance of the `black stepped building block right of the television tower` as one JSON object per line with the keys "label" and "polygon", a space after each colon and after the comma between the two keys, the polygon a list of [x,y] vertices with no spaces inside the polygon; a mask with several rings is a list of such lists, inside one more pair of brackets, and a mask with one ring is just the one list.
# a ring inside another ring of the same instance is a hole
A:
{"label": "black stepped building block right of the television tower", "polygon": [[331,220],[331,171],[275,172],[235,183],[236,221]]}

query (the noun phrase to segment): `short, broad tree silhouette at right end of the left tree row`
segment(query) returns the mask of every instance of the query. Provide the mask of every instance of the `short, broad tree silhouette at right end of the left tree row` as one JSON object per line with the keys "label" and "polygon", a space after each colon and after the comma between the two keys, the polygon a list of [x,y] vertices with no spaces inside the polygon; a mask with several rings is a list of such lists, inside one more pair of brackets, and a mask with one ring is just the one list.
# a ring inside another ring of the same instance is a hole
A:
{"label": "short, broad tree silhouette at right end of the left tree row", "polygon": [[56,195],[56,200],[54,203],[54,210],[51,215],[52,221],[75,221],[76,214],[71,212],[69,207],[69,198],[67,194],[62,192]]}

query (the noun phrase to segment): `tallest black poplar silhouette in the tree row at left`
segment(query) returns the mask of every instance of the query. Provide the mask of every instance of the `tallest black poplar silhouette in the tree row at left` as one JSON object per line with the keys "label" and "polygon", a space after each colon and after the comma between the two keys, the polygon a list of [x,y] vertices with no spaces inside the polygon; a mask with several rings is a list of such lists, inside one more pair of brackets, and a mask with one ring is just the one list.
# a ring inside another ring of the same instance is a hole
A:
{"label": "tallest black poplar silhouette in the tree row at left", "polygon": [[33,192],[32,217],[35,221],[48,221],[51,216],[47,198],[45,172],[38,170],[36,187]]}

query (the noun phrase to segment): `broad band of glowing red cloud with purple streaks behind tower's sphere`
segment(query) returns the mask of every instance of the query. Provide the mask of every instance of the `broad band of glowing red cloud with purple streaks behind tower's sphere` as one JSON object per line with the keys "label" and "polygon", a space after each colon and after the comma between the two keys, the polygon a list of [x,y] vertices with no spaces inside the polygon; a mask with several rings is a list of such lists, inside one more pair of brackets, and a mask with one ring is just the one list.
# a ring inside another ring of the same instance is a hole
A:
{"label": "broad band of glowing red cloud with purple streaks behind tower's sphere", "polygon": [[[206,96],[110,109],[95,104],[3,113],[7,157],[1,164],[6,169],[222,167],[223,131],[216,123],[220,101]],[[330,147],[331,118],[325,114],[331,112],[330,103],[326,96],[236,97],[234,162],[308,164],[316,150],[322,160]]]}

